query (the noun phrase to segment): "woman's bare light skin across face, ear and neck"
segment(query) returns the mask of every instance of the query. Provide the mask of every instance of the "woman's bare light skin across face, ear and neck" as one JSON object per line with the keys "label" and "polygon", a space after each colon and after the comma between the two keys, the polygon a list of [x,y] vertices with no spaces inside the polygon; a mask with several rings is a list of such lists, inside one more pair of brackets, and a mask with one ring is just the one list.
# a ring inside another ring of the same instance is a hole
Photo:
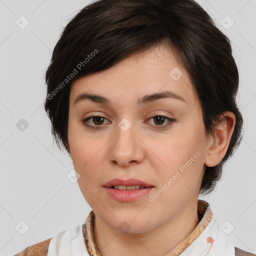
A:
{"label": "woman's bare light skin across face, ear and neck", "polygon": [[[182,76],[169,72],[178,67]],[[162,98],[136,105],[138,98],[155,92],[173,91],[186,103]],[[90,100],[75,104],[81,93],[104,96],[109,106]],[[87,124],[85,117],[99,114],[106,119]],[[165,118],[157,121],[150,115]],[[126,118],[127,131],[118,123]],[[71,86],[68,114],[68,143],[80,190],[95,213],[94,235],[100,255],[164,255],[185,239],[198,224],[197,199],[206,166],[224,157],[235,123],[232,112],[222,115],[213,137],[206,138],[202,109],[188,73],[173,52],[163,45],[132,54],[99,73],[83,76]],[[196,152],[200,156],[155,199],[149,201],[179,166]],[[133,202],[113,200],[103,188],[112,178],[140,179],[153,184],[149,194]],[[126,221],[128,232],[118,226]]]}

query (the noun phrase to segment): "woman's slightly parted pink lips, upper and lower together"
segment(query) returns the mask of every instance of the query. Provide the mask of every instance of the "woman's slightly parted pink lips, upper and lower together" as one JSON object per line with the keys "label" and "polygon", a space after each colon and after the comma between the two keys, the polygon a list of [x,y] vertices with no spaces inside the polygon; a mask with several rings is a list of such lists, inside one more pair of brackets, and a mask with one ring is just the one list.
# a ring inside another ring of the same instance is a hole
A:
{"label": "woman's slightly parted pink lips, upper and lower together", "polygon": [[[140,185],[140,186],[144,186],[144,188],[134,189],[134,190],[118,190],[111,187],[115,185],[123,185],[123,186]],[[108,193],[108,195],[111,196],[112,199],[119,202],[131,202],[131,201],[137,200],[143,195],[148,194],[151,191],[151,189],[153,189],[154,186],[136,178],[129,178],[126,180],[123,180],[120,178],[114,178],[106,182],[103,185],[103,187],[105,188],[106,192]]]}

